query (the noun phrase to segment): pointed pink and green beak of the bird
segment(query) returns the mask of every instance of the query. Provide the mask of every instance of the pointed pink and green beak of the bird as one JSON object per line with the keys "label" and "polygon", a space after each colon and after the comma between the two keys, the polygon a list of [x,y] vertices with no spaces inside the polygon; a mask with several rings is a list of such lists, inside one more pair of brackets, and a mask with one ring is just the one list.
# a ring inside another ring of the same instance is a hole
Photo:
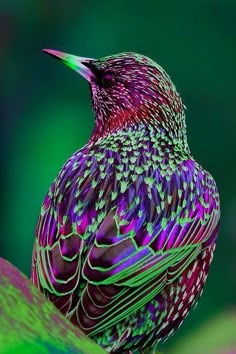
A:
{"label": "pointed pink and green beak of the bird", "polygon": [[[89,68],[89,63],[94,61],[91,58],[83,58],[77,57],[75,55],[59,52],[53,49],[43,49],[43,51],[56,59],[61,60],[64,64],[69,66],[69,68],[77,71],[80,75],[82,75],[89,82],[95,77],[92,70]],[[88,66],[87,66],[87,65]]]}

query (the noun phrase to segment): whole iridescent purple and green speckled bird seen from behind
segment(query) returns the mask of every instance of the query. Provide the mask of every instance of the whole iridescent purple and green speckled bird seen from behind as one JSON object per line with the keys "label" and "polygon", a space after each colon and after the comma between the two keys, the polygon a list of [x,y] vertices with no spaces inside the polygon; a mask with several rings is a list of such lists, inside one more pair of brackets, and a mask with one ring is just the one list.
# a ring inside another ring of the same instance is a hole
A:
{"label": "whole iridescent purple and green speckled bird seen from behind", "polygon": [[42,204],[33,283],[107,353],[154,353],[202,294],[220,220],[185,109],[145,55],[44,49],[89,84],[94,128]]}

